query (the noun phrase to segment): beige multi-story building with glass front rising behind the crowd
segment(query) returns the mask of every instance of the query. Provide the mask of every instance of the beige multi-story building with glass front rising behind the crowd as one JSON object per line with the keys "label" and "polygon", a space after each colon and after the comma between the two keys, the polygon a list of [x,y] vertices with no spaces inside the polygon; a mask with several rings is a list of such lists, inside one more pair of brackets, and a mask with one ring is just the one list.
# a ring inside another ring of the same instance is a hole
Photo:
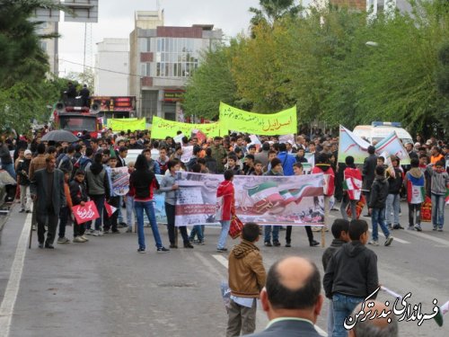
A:
{"label": "beige multi-story building with glass front rising behind the crowd", "polygon": [[201,50],[214,48],[223,31],[211,24],[163,26],[163,12],[136,12],[129,37],[129,94],[137,111],[151,122],[156,115],[177,120],[189,76],[198,68]]}

